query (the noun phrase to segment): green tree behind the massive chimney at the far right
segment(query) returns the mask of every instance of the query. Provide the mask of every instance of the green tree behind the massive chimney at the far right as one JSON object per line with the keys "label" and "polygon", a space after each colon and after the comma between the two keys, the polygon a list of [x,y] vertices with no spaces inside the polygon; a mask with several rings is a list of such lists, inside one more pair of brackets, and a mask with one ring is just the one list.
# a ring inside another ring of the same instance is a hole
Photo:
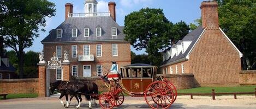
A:
{"label": "green tree behind the massive chimney at the far right", "polygon": [[243,69],[256,69],[256,0],[217,0],[219,25],[242,52]]}

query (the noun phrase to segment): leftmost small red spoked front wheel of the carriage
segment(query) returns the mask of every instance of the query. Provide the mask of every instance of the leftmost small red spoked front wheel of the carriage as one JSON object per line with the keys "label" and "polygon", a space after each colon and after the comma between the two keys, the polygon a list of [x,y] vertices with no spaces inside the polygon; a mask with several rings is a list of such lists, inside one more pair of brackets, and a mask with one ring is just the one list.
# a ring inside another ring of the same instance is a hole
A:
{"label": "leftmost small red spoked front wheel of the carriage", "polygon": [[104,109],[113,108],[115,106],[115,97],[113,94],[106,92],[99,95],[99,105]]}

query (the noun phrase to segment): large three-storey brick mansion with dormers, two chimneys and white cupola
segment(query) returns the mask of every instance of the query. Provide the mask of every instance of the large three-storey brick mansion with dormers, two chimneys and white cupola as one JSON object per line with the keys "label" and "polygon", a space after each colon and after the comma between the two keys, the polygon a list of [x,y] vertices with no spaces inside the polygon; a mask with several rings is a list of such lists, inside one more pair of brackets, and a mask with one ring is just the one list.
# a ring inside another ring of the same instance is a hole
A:
{"label": "large three-storey brick mansion with dormers, two chimneys and white cupola", "polygon": [[[101,76],[111,68],[130,65],[130,43],[124,41],[123,27],[116,23],[115,2],[109,2],[109,12],[97,12],[97,1],[85,1],[85,13],[73,13],[73,4],[65,5],[65,21],[52,29],[41,43],[45,61],[54,52],[64,60],[69,54],[69,72],[76,77]],[[62,80],[61,69],[50,70],[50,82]]]}

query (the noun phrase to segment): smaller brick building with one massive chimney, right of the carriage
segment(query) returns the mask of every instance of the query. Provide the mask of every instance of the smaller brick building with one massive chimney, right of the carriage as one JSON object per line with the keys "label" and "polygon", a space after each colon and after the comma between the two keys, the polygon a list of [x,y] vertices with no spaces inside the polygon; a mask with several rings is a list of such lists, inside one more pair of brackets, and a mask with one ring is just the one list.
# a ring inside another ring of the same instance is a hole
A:
{"label": "smaller brick building with one massive chimney, right of the carriage", "polygon": [[163,52],[164,74],[194,74],[200,86],[239,84],[241,52],[219,28],[217,2],[202,2],[203,25]]}

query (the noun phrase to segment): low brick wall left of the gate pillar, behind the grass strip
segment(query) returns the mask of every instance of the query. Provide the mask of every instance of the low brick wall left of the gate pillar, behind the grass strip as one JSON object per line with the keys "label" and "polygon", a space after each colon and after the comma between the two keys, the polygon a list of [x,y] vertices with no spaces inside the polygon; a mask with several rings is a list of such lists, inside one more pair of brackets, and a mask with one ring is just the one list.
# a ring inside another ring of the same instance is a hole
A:
{"label": "low brick wall left of the gate pillar, behind the grass strip", "polygon": [[0,93],[38,93],[38,79],[0,80]]}

